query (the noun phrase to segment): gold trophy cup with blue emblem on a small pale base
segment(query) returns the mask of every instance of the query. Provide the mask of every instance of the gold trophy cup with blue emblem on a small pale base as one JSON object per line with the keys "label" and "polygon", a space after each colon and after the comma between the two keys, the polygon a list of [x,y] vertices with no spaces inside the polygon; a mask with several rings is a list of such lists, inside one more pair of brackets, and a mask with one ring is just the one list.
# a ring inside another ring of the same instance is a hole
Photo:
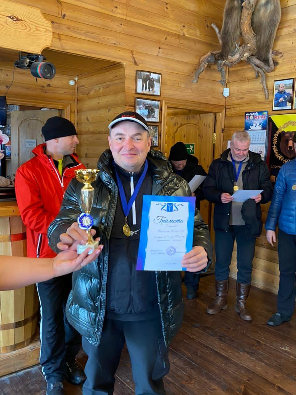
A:
{"label": "gold trophy cup with blue emblem on a small pale base", "polygon": [[82,254],[86,248],[91,248],[89,254],[93,252],[99,245],[98,241],[95,241],[91,235],[91,228],[93,226],[93,217],[89,214],[91,207],[93,206],[93,194],[94,188],[91,186],[92,182],[95,182],[99,174],[97,169],[81,169],[75,170],[76,180],[82,182],[84,185],[81,188],[80,208],[82,213],[78,217],[78,225],[80,229],[86,230],[88,239],[85,245],[79,244],[77,246],[77,254]]}

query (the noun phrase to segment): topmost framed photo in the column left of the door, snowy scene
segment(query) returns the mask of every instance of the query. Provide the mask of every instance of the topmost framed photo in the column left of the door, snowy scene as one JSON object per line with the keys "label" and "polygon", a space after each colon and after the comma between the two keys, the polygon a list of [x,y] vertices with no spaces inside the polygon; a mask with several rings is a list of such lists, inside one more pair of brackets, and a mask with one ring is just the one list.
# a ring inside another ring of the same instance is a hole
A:
{"label": "topmost framed photo in the column left of the door, snowy scene", "polygon": [[160,96],[161,74],[136,70],[136,93]]}

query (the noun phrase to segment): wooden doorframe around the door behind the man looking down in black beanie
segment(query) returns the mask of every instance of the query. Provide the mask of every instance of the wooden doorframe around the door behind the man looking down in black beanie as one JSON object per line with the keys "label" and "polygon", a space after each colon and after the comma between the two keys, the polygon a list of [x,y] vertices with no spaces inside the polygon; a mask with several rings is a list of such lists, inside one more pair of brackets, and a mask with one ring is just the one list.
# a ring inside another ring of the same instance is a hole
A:
{"label": "wooden doorframe around the door behind the man looking down in black beanie", "polygon": [[[162,100],[161,101],[161,142],[160,142],[160,150],[165,152],[165,133],[166,133],[166,125],[167,125],[167,108],[180,108],[186,110],[198,110],[201,114],[205,113],[214,113],[216,115],[215,119],[215,131],[216,133],[216,143],[214,144],[214,152],[213,159],[219,158],[222,152],[223,147],[223,132],[224,132],[224,120],[225,120],[225,112],[226,107],[224,105],[215,105],[215,104],[205,104],[205,103],[195,103],[195,102],[176,102],[175,100]],[[214,245],[214,221],[213,221],[213,203],[211,204],[211,228],[210,235],[211,240]],[[214,259],[214,257],[213,257]]]}

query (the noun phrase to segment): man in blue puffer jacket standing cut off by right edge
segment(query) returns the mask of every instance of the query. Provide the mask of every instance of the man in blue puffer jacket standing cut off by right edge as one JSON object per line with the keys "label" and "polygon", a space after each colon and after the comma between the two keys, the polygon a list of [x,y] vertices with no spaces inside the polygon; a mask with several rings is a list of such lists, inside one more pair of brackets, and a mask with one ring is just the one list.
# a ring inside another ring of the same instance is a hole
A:
{"label": "man in blue puffer jacket standing cut off by right edge", "polygon": [[296,272],[296,161],[285,163],[277,176],[265,228],[266,238],[273,246],[279,222],[279,291],[277,312],[267,324],[277,326],[290,321],[295,307]]}

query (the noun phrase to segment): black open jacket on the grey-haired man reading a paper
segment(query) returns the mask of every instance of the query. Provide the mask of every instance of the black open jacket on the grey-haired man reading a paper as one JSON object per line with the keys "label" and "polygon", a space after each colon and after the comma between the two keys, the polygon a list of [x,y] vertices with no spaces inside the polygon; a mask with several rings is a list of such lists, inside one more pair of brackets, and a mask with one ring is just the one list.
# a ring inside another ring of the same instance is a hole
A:
{"label": "black open jacket on the grey-haired man reading a paper", "polygon": [[[205,199],[211,203],[215,203],[214,229],[221,231],[228,231],[231,210],[231,203],[222,203],[221,195],[224,192],[228,192],[232,195],[235,182],[233,165],[227,159],[229,152],[230,149],[227,149],[222,152],[221,158],[213,160],[209,167],[207,178],[203,184],[203,195]],[[268,203],[271,200],[272,185],[270,175],[268,167],[262,160],[261,155],[249,151],[249,161],[242,173],[242,178],[244,189],[263,190],[260,203]],[[243,208],[245,203],[243,203]],[[256,223],[253,223],[254,226],[252,226],[252,224],[248,224],[247,226],[247,237],[257,237],[261,233],[262,220],[260,203],[256,204]]]}

